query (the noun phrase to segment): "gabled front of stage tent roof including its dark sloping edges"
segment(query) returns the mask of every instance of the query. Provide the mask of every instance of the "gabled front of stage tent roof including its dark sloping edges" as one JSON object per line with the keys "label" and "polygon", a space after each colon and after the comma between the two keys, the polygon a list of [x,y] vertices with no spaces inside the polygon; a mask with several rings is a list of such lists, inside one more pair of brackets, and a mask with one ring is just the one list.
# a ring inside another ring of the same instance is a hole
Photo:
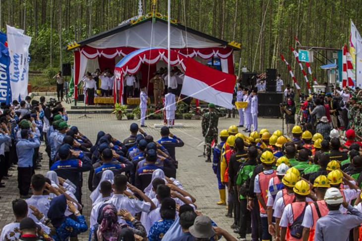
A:
{"label": "gabled front of stage tent roof including its dark sloping edges", "polygon": [[[117,48],[117,47],[150,47],[151,36],[153,47],[167,47],[167,21],[156,18],[156,22],[151,25],[153,18],[145,19],[141,22],[131,24],[129,22],[121,24],[108,31],[94,35],[88,39],[78,42],[79,47],[91,46],[93,48]],[[153,33],[151,33],[151,29]],[[137,36],[137,40],[128,37]],[[187,46],[186,46],[187,43]],[[166,46],[165,46],[166,44]],[[210,35],[201,33],[191,28],[186,28],[181,24],[171,24],[171,48],[212,48],[230,47],[239,50],[224,40],[217,39]]]}

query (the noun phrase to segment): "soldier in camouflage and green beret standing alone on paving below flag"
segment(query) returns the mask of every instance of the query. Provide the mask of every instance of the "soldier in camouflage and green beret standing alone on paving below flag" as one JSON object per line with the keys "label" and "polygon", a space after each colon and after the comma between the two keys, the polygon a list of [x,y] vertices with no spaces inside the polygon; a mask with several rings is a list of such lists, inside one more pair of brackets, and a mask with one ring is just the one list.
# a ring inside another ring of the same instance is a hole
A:
{"label": "soldier in camouflage and green beret standing alone on paving below flag", "polygon": [[205,113],[202,116],[202,136],[205,138],[205,145],[206,145],[206,155],[207,160],[206,162],[211,162],[211,143],[215,140],[217,143],[218,140],[218,122],[219,122],[219,115],[215,111],[215,105],[213,103],[209,103],[209,112]]}

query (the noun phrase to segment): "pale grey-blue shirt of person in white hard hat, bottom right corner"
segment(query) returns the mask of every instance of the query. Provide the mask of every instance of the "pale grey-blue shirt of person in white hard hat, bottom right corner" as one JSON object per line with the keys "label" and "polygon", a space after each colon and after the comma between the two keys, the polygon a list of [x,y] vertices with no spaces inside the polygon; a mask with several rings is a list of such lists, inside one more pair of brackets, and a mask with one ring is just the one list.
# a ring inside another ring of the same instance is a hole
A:
{"label": "pale grey-blue shirt of person in white hard hat, bottom right corner", "polygon": [[348,205],[347,210],[352,213],[342,214],[339,210],[329,211],[327,216],[317,220],[315,226],[315,241],[348,241],[350,230],[362,223],[362,213]]}

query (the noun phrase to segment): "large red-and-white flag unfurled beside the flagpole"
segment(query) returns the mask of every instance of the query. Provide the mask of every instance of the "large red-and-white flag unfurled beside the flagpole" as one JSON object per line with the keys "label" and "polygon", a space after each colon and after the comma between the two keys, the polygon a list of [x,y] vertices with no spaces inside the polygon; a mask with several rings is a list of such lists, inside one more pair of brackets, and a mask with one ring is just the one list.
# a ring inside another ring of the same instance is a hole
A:
{"label": "large red-and-white flag unfurled beside the flagpole", "polygon": [[232,109],[235,82],[235,75],[187,58],[181,94]]}

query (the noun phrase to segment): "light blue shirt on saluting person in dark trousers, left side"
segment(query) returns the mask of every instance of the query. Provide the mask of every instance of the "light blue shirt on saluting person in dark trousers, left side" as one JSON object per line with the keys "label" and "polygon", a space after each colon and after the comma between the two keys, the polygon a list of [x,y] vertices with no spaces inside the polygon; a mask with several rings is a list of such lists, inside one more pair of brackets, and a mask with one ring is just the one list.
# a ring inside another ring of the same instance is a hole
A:
{"label": "light blue shirt on saluting person in dark trousers, left side", "polygon": [[19,139],[16,144],[16,153],[18,156],[18,167],[32,167],[34,148],[40,146],[38,138],[34,139]]}

